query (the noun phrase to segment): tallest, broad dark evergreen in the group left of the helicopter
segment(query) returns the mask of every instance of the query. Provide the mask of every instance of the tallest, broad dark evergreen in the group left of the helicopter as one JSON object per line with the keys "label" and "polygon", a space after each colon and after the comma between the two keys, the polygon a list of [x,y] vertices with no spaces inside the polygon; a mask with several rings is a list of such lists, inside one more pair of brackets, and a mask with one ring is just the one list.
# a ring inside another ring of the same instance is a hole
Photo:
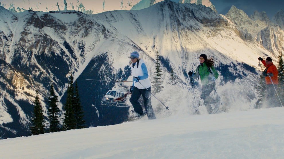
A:
{"label": "tallest, broad dark evergreen in the group left of the helicopter", "polygon": [[76,128],[76,119],[74,115],[74,86],[73,86],[73,76],[70,76],[70,81],[67,88],[67,98],[66,103],[63,106],[64,120],[63,120],[63,130],[71,130]]}

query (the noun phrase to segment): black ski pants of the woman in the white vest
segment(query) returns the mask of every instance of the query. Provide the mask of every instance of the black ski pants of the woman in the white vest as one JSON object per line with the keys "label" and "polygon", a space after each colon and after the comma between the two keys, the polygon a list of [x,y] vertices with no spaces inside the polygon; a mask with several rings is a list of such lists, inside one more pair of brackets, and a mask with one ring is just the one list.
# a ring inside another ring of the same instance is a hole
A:
{"label": "black ski pants of the woman in the white vest", "polygon": [[138,102],[138,99],[142,95],[148,119],[155,119],[155,113],[151,105],[151,87],[147,89],[138,89],[137,87],[134,87],[130,97],[130,102],[134,108],[134,111],[137,114],[140,114],[141,112],[143,112],[143,108]]}

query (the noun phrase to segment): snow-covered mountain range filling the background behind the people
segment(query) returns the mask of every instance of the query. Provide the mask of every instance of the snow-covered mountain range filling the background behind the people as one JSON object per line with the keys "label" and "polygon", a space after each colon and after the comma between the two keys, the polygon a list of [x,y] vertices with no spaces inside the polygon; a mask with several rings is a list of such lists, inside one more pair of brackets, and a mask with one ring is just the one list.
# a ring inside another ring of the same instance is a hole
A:
{"label": "snow-covered mountain range filling the background behind the people", "polygon": [[[169,0],[141,10],[94,15],[80,11],[14,13],[3,7],[0,15],[0,138],[29,134],[35,91],[39,89],[46,115],[51,82],[62,110],[70,75],[78,82],[87,126],[126,121],[132,107],[102,106],[101,102],[107,90],[130,84],[85,79],[131,79],[128,63],[132,51],[144,59],[151,81],[155,52],[161,55],[164,89],[156,96],[170,110],[152,98],[157,116],[193,114],[194,103],[206,113],[199,88],[195,94],[188,91],[187,72],[196,69],[202,53],[215,58],[221,110],[254,109],[257,57],[270,56],[276,64],[284,49],[281,12],[273,23],[261,19],[264,13],[256,12],[250,18],[234,6],[226,15],[204,5]],[[171,69],[178,76],[176,85],[169,84]]]}

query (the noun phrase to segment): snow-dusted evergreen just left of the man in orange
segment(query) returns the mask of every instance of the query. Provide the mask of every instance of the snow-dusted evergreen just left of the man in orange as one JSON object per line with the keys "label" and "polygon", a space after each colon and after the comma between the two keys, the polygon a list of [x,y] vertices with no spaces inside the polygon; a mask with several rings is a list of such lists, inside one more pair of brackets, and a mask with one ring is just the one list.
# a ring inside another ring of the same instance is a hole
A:
{"label": "snow-dusted evergreen just left of the man in orange", "polygon": [[[262,65],[262,72],[265,70],[265,67]],[[259,75],[259,80],[258,84],[256,86],[256,92],[258,94],[258,100],[256,101],[256,106],[255,108],[261,108],[263,104],[263,99],[265,97],[266,93],[266,82],[265,82],[265,77],[262,75],[262,73]]]}

